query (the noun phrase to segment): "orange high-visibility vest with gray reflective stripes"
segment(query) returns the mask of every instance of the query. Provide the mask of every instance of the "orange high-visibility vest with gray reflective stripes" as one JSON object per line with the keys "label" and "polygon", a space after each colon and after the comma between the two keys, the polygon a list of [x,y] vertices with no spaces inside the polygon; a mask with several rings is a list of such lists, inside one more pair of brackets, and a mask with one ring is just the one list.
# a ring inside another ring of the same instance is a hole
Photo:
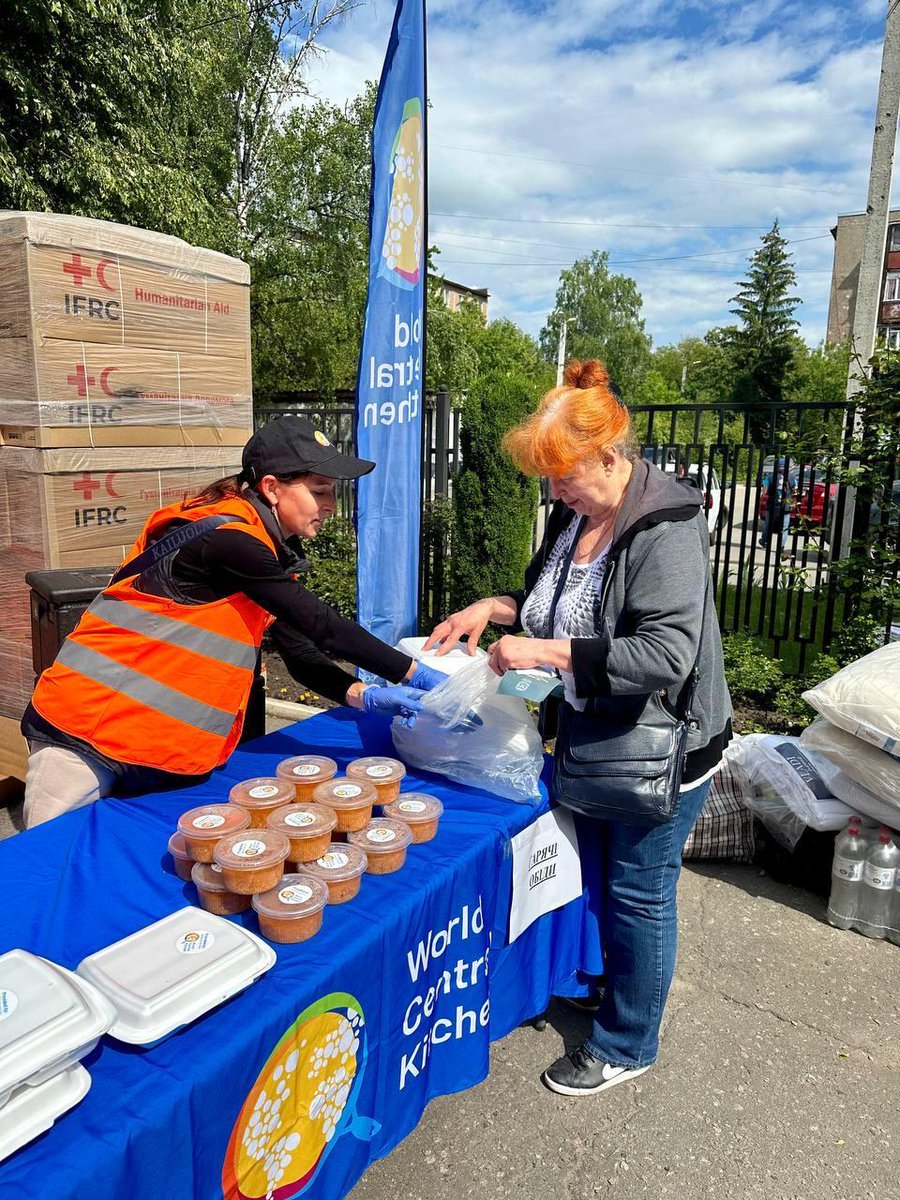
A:
{"label": "orange high-visibility vest with gray reflective stripes", "polygon": [[[158,509],[125,559],[173,520],[234,516],[233,528],[275,545],[239,497]],[[253,671],[274,618],[242,593],[185,605],[148,595],[125,577],[101,592],[68,635],[32,696],[37,712],[118,762],[200,775],[240,738]]]}

